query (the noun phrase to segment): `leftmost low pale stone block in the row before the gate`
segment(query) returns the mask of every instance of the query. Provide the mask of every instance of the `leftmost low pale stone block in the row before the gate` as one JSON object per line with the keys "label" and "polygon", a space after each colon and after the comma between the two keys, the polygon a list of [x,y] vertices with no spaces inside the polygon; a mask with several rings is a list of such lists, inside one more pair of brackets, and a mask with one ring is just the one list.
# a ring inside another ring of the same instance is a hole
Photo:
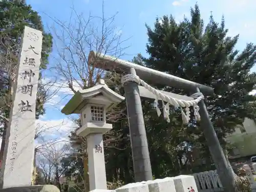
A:
{"label": "leftmost low pale stone block in the row before the gate", "polygon": [[116,192],[149,192],[147,182],[129,183],[116,189]]}

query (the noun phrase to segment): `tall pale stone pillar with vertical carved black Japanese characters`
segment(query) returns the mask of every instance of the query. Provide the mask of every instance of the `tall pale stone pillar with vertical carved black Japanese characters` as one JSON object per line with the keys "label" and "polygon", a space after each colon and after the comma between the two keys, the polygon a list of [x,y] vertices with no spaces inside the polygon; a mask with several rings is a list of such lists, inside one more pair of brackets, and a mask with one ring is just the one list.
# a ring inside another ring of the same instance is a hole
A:
{"label": "tall pale stone pillar with vertical carved black Japanese characters", "polygon": [[3,188],[31,185],[41,47],[41,31],[25,27],[5,141],[1,184]]}

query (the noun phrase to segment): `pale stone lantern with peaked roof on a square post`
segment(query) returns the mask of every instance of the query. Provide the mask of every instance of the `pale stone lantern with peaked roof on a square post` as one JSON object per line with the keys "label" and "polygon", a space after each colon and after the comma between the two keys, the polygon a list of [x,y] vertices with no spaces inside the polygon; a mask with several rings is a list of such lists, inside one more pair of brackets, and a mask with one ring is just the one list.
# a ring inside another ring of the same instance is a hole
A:
{"label": "pale stone lantern with peaked roof on a square post", "polygon": [[77,91],[61,110],[66,115],[80,114],[78,136],[87,137],[90,190],[107,189],[102,135],[112,129],[106,112],[124,100],[100,79],[96,86]]}

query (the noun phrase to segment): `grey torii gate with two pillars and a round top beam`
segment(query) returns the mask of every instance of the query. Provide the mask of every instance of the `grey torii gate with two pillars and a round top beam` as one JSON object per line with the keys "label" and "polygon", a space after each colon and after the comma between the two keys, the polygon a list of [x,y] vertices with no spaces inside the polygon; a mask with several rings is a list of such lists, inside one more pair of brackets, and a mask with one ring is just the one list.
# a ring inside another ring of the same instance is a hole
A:
{"label": "grey torii gate with two pillars and a round top beam", "polygon": [[[104,69],[106,71],[112,71],[114,69],[118,73],[120,72],[122,74],[130,74],[128,76],[125,75],[126,79],[123,83],[123,87],[125,91],[127,113],[129,118],[135,181],[140,182],[152,180],[153,176],[151,170],[150,156],[148,152],[145,125],[140,100],[140,93],[142,93],[142,96],[144,95],[147,97],[148,93],[145,93],[145,90],[143,89],[143,87],[141,88],[139,84],[143,83],[143,80],[154,80],[154,82],[156,83],[183,89],[185,91],[188,91],[189,93],[195,94],[201,92],[201,96],[202,94],[214,95],[214,89],[196,82],[192,82],[160,71],[136,65],[135,63],[129,61],[96,53],[94,51],[90,52],[88,61],[89,65],[93,65],[96,68]],[[163,94],[168,96],[172,95],[171,97],[176,99],[184,99],[185,97],[167,92],[164,92]],[[149,97],[153,98],[154,96]],[[164,97],[161,98],[162,100],[164,100]],[[221,148],[220,142],[214,130],[214,126],[212,125],[204,100],[202,98],[203,96],[198,102],[198,106],[200,108],[199,115],[201,116],[201,125],[204,127],[203,133],[206,138],[212,159],[215,162],[221,182],[225,187],[225,190],[231,192],[234,191],[233,189],[235,186],[232,167],[229,166],[228,161],[225,158],[225,154]],[[189,101],[192,99],[193,98],[191,97],[187,97],[184,100]]]}

